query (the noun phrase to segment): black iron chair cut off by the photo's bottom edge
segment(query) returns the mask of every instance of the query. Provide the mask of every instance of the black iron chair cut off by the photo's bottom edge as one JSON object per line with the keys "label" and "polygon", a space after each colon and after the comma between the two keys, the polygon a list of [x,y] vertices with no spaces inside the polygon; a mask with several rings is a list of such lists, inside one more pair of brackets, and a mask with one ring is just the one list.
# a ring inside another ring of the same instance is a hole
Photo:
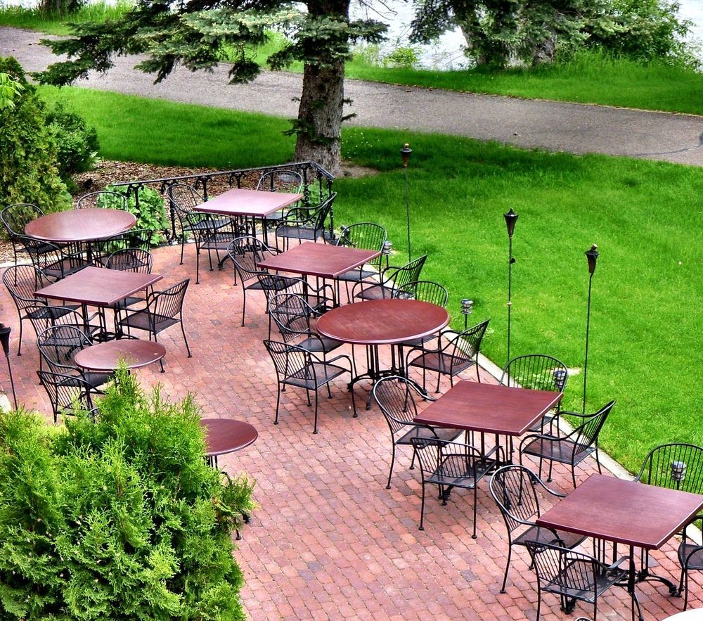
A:
{"label": "black iron chair cut off by the photo's bottom edge", "polygon": [[[570,549],[560,539],[551,543],[528,540],[525,546],[537,576],[536,621],[540,619],[543,591],[558,595],[562,610],[567,613],[574,610],[576,601],[592,603],[595,620],[598,617],[598,598],[613,585],[627,587],[629,570],[628,567],[621,567],[629,560],[627,556],[606,565],[593,556]],[[635,597],[634,594],[632,596]]]}

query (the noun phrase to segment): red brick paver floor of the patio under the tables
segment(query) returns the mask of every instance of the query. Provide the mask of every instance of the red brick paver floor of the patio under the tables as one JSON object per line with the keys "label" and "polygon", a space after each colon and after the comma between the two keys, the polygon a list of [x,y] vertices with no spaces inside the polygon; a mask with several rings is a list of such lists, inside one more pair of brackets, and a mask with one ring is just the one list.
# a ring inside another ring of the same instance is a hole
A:
{"label": "red brick paver floor of the patio under the tables", "polygon": [[[385,489],[388,429],[378,409],[363,409],[368,385],[356,388],[359,418],[352,418],[344,378],[335,381],[332,399],[321,393],[318,435],[312,433],[304,392],[289,388],[282,397],[280,424],[273,425],[276,378],[262,345],[268,330],[262,293],[249,295],[242,327],[241,288],[233,286],[231,268],[205,269],[195,285],[193,245],[186,247],[182,266],[177,246],[157,249],[154,256],[154,271],[165,275],[159,286],[193,279],[184,311],[193,358],[186,357],[178,327],[170,328],[160,335],[168,352],[166,373],[159,373],[157,365],[141,369],[142,385],[162,383],[173,399],[195,392],[203,416],[237,418],[259,430],[252,446],[219,459],[221,468],[248,473],[257,482],[259,508],[236,553],[245,572],[242,599],[250,618],[534,620],[536,581],[524,549],[513,556],[507,593],[499,593],[507,538],[488,480],[479,485],[477,539],[471,538],[470,490],[453,491],[447,506],[428,494],[425,531],[420,532],[420,472],[408,469],[409,447],[399,447],[392,489]],[[17,316],[4,288],[0,300],[16,350]],[[18,399],[47,413],[50,421],[49,400],[35,372],[34,333],[28,322],[25,328],[25,353],[11,359]],[[482,380],[496,381],[482,373]],[[474,371],[467,378],[475,379]],[[577,472],[583,480],[594,471],[589,460]],[[555,466],[552,486],[569,491],[568,468]],[[673,544],[652,556],[658,572],[678,577]],[[692,574],[691,608],[703,606],[701,584],[699,575]],[[638,586],[647,620],[681,610],[683,598],[667,593],[656,583]],[[626,592],[615,588],[600,600],[599,617],[629,619],[629,610]],[[575,612],[569,617],[560,612],[557,598],[543,597],[545,621],[591,617],[593,609],[579,604]]]}

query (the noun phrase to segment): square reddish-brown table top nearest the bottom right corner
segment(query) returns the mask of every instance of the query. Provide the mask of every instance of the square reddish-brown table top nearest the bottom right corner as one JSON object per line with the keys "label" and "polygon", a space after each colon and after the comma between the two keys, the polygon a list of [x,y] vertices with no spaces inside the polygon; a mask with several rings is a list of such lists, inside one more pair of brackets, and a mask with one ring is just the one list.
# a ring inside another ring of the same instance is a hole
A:
{"label": "square reddish-brown table top nearest the bottom right corner", "polygon": [[703,496],[591,475],[537,518],[540,526],[657,549],[703,508]]}

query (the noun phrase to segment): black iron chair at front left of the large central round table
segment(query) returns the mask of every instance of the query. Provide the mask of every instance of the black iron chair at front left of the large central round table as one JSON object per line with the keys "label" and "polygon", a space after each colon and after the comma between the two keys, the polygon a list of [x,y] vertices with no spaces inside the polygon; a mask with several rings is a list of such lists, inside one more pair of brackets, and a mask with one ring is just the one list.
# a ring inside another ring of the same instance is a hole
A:
{"label": "black iron chair at front left of the large central round table", "polygon": [[[321,360],[308,350],[296,345],[287,345],[283,342],[264,340],[266,351],[269,352],[273,366],[276,369],[276,380],[278,382],[278,395],[276,397],[276,418],[273,419],[273,424],[278,425],[278,409],[280,407],[280,393],[285,390],[286,386],[296,386],[304,388],[308,406],[311,406],[310,392],[315,393],[315,422],[314,431],[317,433],[317,415],[318,415],[318,390],[323,386],[327,386],[328,396],[332,397],[330,383],[335,378],[349,373],[352,376],[352,360],[349,356],[343,354],[331,358],[329,360]],[[340,366],[340,361],[347,361],[349,368]],[[356,403],[354,402],[354,390],[352,393],[352,410],[356,418]]]}

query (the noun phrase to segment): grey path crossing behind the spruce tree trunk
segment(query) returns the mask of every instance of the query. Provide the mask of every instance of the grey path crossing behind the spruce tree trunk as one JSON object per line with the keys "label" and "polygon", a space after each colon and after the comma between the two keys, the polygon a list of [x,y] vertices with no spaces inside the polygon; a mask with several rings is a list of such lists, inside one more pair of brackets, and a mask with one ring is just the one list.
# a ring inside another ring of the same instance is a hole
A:
{"label": "grey path crossing behind the spruce tree trunk", "polygon": [[[15,56],[27,71],[56,60],[37,45],[41,35],[0,27],[0,55]],[[161,84],[135,71],[137,59],[118,58],[104,75],[77,86],[295,117],[301,76],[264,72],[252,84],[228,86],[226,67],[212,73],[179,68]],[[606,153],[703,166],[703,117],[598,105],[523,100],[375,84],[347,79],[351,124],[411,129],[496,140],[527,148]]]}

